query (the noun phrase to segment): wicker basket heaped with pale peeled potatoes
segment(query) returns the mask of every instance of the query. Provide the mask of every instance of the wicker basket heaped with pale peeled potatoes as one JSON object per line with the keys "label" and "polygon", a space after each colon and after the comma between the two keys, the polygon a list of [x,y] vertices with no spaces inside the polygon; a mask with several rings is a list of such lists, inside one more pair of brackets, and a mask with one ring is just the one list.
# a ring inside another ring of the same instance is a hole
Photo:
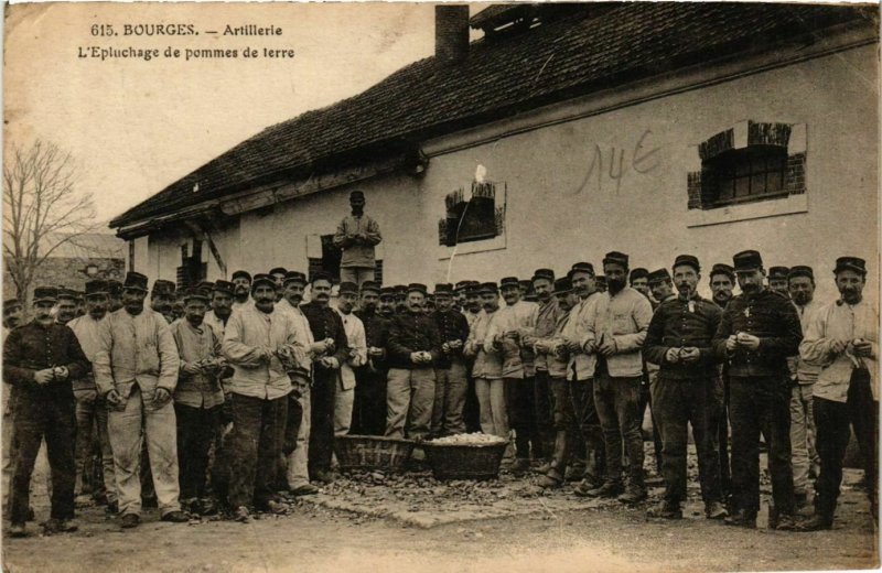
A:
{"label": "wicker basket heaped with pale peeled potatoes", "polygon": [[493,479],[499,475],[499,464],[508,445],[433,444],[423,442],[426,461],[435,479]]}

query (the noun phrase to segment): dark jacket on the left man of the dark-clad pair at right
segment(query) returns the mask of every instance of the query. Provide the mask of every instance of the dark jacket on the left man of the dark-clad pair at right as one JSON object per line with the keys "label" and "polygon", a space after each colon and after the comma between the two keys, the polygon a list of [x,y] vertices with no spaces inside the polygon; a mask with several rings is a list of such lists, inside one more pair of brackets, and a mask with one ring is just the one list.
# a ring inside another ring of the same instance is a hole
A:
{"label": "dark jacket on the left man of the dark-clad pair at right", "polygon": [[[722,311],[712,301],[695,295],[688,301],[678,296],[663,302],[649,323],[643,355],[647,363],[660,366],[667,378],[709,378],[717,372],[713,335],[720,325]],[[670,348],[696,347],[699,359],[692,364],[669,363]]]}

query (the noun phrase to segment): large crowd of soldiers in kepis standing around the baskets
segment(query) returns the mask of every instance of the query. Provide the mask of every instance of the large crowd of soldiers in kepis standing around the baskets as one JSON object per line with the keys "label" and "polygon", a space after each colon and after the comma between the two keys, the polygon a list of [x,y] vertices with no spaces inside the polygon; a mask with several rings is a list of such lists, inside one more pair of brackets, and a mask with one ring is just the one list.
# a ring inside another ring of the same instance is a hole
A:
{"label": "large crowd of soldiers in kepis standing around the baskets", "polygon": [[[577,262],[563,277],[538,269],[432,293],[356,274],[334,293],[324,272],[239,270],[183,292],[158,280],[150,307],[148,278],[129,272],[86,283],[79,312],[76,293],[36,288],[30,322],[20,305],[3,309],[9,532],[25,534],[43,441],[52,532],[76,529],[94,443],[103,501],[123,528],[139,525],[149,489],[172,522],[216,511],[215,500],[240,521],[283,512],[280,493],[334,479],[345,434],[419,442],[480,430],[509,441],[515,475],[637,504],[649,404],[665,482],[650,517],[682,516],[688,425],[709,519],[755,527],[762,436],[770,527],[831,527],[850,428],[875,516],[879,315],[862,298],[862,259],[836,260],[840,298],[826,305],[813,269],[766,273],[756,251],[712,267],[712,300],[697,292],[691,255],[650,273],[613,251],[602,271]],[[815,512],[802,519],[809,476]]]}

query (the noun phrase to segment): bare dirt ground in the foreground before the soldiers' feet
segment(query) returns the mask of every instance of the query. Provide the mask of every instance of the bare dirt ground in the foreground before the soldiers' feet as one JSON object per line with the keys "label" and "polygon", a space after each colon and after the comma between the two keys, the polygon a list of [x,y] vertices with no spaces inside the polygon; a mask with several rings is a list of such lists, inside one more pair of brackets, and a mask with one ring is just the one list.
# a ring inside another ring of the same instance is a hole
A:
{"label": "bare dirt ground in the foreground before the soldiers' feet", "polygon": [[[369,516],[361,508],[346,511],[319,501],[347,499],[352,491],[337,486],[298,501],[291,515],[263,516],[248,525],[165,523],[157,510],[148,510],[139,528],[123,531],[116,517],[88,507],[78,510],[77,532],[43,537],[37,522],[49,513],[45,478],[34,477],[36,522],[29,523],[30,537],[3,540],[4,571],[569,573],[879,566],[878,532],[867,496],[857,488],[861,473],[853,469],[847,471],[835,529],[811,533],[767,530],[764,512],[756,530],[708,521],[695,487],[681,521],[647,520],[645,504],[588,507],[573,501],[579,509],[567,509],[564,491],[547,501],[544,496],[531,497],[536,510],[526,515],[415,527],[394,517]],[[519,486],[504,478],[494,487],[517,491]],[[765,499],[767,485],[763,491]],[[657,497],[660,488],[652,493]],[[439,496],[438,504],[450,497]],[[431,501],[422,501],[427,504]]]}

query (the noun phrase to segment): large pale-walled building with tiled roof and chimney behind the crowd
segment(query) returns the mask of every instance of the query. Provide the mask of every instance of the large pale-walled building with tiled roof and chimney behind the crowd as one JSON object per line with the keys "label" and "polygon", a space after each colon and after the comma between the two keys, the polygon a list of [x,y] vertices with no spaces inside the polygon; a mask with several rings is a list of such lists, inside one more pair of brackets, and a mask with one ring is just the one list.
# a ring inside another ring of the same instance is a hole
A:
{"label": "large pale-walled building with tiled roof and chimney behind the crowd", "polygon": [[435,28],[434,56],[115,218],[129,264],[179,282],[335,270],[355,188],[386,283],[757,248],[831,294],[836,256],[878,260],[878,7],[447,6]]}

